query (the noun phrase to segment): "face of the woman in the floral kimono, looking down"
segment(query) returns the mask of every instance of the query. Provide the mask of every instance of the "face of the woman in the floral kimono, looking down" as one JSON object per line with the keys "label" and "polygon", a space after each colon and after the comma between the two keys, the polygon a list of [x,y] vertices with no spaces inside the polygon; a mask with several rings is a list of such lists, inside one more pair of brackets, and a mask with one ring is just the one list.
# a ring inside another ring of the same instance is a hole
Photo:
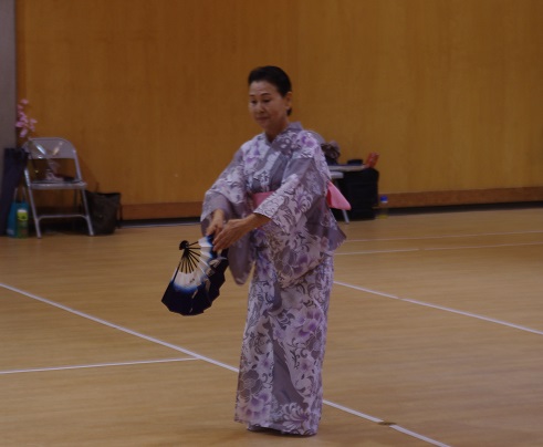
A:
{"label": "face of the woman in the floral kimono, looking down", "polygon": [[278,87],[268,81],[249,85],[249,112],[270,141],[289,125],[292,92],[281,96]]}

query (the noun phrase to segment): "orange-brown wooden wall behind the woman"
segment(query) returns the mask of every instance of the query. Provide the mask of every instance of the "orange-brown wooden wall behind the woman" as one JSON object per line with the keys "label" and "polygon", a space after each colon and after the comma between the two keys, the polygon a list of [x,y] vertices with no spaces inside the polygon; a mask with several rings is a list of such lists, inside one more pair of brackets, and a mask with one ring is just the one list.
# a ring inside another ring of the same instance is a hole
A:
{"label": "orange-brown wooden wall behind the woman", "polygon": [[260,64],[291,74],[293,119],[343,160],[379,152],[393,197],[543,193],[541,0],[17,4],[19,97],[41,136],[76,145],[93,185],[123,193],[128,217],[198,214],[259,132],[246,79]]}

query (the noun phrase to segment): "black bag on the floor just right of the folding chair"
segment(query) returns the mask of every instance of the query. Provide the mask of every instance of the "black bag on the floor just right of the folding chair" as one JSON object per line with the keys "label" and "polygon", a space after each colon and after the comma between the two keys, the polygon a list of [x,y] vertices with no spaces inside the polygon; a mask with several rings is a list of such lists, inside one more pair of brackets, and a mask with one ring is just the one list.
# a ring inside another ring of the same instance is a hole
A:
{"label": "black bag on the floor just right of the folding chair", "polygon": [[121,193],[85,191],[95,235],[113,235],[122,220]]}

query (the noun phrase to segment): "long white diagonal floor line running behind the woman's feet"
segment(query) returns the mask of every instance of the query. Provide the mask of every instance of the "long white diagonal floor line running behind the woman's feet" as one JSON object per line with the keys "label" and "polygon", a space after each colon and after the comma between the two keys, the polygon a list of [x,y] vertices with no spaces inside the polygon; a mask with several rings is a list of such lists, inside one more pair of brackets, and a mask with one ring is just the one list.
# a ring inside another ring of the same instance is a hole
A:
{"label": "long white diagonal floor line running behind the woman's feet", "polygon": [[[114,323],[111,323],[106,320],[102,320],[102,319],[98,319],[96,316],[93,316],[93,315],[90,315],[87,313],[84,313],[84,312],[80,312],[80,311],[76,311],[75,309],[72,309],[72,308],[69,308],[67,305],[63,305],[63,304],[60,304],[60,303],[56,303],[54,301],[51,301],[51,300],[48,300],[45,298],[42,298],[42,297],[38,297],[33,293],[30,293],[30,292],[27,292],[24,290],[21,290],[21,289],[17,289],[17,288],[13,288],[11,285],[8,285],[8,284],[4,284],[4,283],[0,283],[0,287],[1,288],[4,288],[4,289],[8,289],[8,290],[11,290],[12,292],[15,292],[15,293],[19,293],[19,294],[22,294],[24,297],[28,297],[28,298],[31,298],[32,300],[36,300],[36,301],[40,301],[42,303],[45,303],[45,304],[49,304],[49,305],[52,305],[53,308],[58,308],[58,309],[62,309],[63,311],[66,311],[66,312],[70,312],[70,313],[73,313],[74,315],[77,315],[77,316],[81,316],[81,318],[84,318],[84,319],[87,319],[87,320],[91,320],[91,321],[94,321],[96,323],[100,323],[100,324],[103,324],[105,326],[108,326],[108,328],[113,328],[113,329],[116,329],[121,332],[124,332],[124,333],[127,333],[127,334],[130,334],[130,335],[134,335],[134,336],[137,336],[139,339],[143,339],[143,340],[146,340],[148,342],[152,342],[152,343],[156,343],[156,344],[159,344],[161,346],[166,346],[166,347],[170,347],[175,351],[178,351],[178,352],[182,352],[184,354],[187,354],[187,355],[191,355],[195,360],[201,360],[203,362],[207,362],[207,363],[210,363],[212,365],[216,365],[216,366],[220,366],[222,368],[226,368],[226,370],[229,370],[229,371],[232,371],[234,373],[238,373],[239,370],[233,367],[233,366],[230,366],[230,365],[227,365],[226,363],[222,363],[222,362],[217,362],[212,358],[209,358],[209,357],[206,357],[203,355],[199,355],[192,351],[188,351],[188,350],[185,350],[180,346],[177,346],[175,344],[171,344],[171,343],[167,343],[167,342],[164,342],[159,339],[155,339],[153,336],[148,336],[148,335],[145,335],[145,334],[142,334],[139,332],[136,332],[136,331],[132,331],[127,328],[123,328],[123,326],[119,326],[117,324],[114,324]],[[106,364],[104,364],[104,366],[106,366]],[[49,370],[45,370],[45,368],[38,368],[36,371],[49,371]],[[29,371],[22,371],[22,372],[29,372]],[[13,374],[14,372],[12,372],[11,374]],[[9,374],[6,373],[6,374]],[[344,407],[342,405],[338,405],[338,404],[335,404],[333,402],[330,402],[330,401],[323,401],[323,403],[325,405],[328,405],[331,407],[334,407],[334,408],[337,408],[340,410],[343,410],[343,412],[346,412],[346,413],[349,413],[352,415],[355,415],[355,416],[358,416],[358,417],[362,417],[364,419],[367,419],[367,420],[370,420],[373,423],[376,423],[376,424],[383,424],[384,420],[382,419],[378,419],[374,416],[369,416],[369,415],[366,415],[364,413],[359,413],[359,412],[356,412],[352,408],[347,408],[347,407]],[[421,439],[421,440],[425,440],[426,443],[428,444],[431,444],[434,446],[439,446],[439,447],[449,447],[447,446],[446,444],[442,444],[442,443],[439,443],[437,440],[434,440],[434,439],[430,439],[426,436],[422,436],[422,435],[419,435],[415,432],[410,432],[408,430],[407,428],[403,428],[396,424],[393,424],[393,425],[389,425],[389,428],[394,428],[398,432],[401,432],[404,433],[405,435],[408,435],[408,436],[411,436],[411,437],[415,437],[415,438],[418,438],[418,439]]]}

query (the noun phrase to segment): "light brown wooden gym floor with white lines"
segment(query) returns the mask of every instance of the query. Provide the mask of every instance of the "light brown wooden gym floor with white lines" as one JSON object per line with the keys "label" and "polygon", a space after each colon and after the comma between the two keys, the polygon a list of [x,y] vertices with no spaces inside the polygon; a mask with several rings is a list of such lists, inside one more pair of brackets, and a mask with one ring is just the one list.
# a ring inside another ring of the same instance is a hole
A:
{"label": "light brown wooden gym floor with white lines", "polygon": [[310,438],[232,420],[247,287],[160,303],[197,225],[0,238],[0,446],[542,446],[543,209],[342,227]]}

